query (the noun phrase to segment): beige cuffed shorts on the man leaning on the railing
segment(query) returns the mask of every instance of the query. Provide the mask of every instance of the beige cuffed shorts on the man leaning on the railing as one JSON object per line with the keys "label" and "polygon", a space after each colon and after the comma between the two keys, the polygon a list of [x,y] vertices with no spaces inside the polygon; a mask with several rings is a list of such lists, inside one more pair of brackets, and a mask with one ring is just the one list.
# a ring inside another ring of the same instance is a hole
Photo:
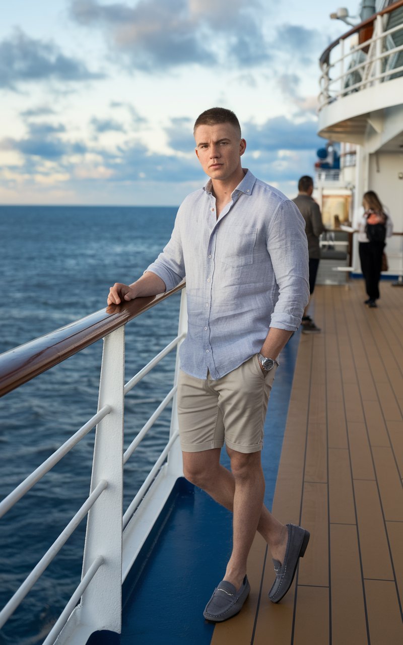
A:
{"label": "beige cuffed shorts on the man leaning on the railing", "polygon": [[221,379],[179,374],[178,417],[181,448],[201,452],[228,448],[262,450],[264,419],[277,365],[264,376],[257,355]]}

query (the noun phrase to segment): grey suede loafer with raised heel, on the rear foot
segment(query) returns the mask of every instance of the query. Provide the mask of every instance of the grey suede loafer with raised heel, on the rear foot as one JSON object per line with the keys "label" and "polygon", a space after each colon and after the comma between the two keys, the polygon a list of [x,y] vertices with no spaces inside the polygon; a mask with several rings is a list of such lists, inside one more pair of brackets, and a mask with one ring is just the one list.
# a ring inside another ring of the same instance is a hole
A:
{"label": "grey suede loafer with raised heel, on the rear foot", "polygon": [[287,524],[288,540],[284,562],[281,564],[278,560],[273,559],[276,579],[269,591],[271,602],[279,602],[290,589],[291,584],[297,571],[298,561],[304,557],[306,547],[310,541],[310,533],[301,526]]}

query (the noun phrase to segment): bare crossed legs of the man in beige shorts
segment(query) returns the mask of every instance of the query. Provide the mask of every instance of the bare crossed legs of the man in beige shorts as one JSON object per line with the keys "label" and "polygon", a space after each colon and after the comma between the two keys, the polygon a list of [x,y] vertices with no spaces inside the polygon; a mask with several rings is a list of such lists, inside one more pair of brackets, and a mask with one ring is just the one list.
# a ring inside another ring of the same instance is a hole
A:
{"label": "bare crossed legs of the man in beige shorts", "polygon": [[284,559],[288,532],[263,505],[260,452],[244,454],[228,450],[232,473],[221,466],[220,452],[220,448],[184,452],[184,476],[234,513],[233,551],[224,579],[239,589],[256,529],[268,542],[273,558],[280,562]]}

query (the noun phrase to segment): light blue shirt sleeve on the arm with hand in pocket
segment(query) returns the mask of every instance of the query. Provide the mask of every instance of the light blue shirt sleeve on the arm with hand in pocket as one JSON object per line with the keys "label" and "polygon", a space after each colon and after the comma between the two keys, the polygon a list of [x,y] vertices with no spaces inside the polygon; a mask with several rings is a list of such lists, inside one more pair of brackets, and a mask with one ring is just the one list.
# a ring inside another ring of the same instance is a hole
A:
{"label": "light blue shirt sleeve on the arm with hand in pocket", "polygon": [[267,248],[279,286],[270,326],[296,331],[310,298],[310,286],[305,223],[293,202],[279,205],[268,230]]}

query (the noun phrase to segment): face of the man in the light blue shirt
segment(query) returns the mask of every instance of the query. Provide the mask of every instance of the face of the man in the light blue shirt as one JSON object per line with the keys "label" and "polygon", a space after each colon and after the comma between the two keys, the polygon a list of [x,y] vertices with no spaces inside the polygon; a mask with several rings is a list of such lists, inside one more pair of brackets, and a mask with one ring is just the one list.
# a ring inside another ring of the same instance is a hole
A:
{"label": "face of the man in the light blue shirt", "polygon": [[241,170],[245,139],[231,123],[199,125],[195,130],[197,159],[206,175],[216,181],[230,181]]}

